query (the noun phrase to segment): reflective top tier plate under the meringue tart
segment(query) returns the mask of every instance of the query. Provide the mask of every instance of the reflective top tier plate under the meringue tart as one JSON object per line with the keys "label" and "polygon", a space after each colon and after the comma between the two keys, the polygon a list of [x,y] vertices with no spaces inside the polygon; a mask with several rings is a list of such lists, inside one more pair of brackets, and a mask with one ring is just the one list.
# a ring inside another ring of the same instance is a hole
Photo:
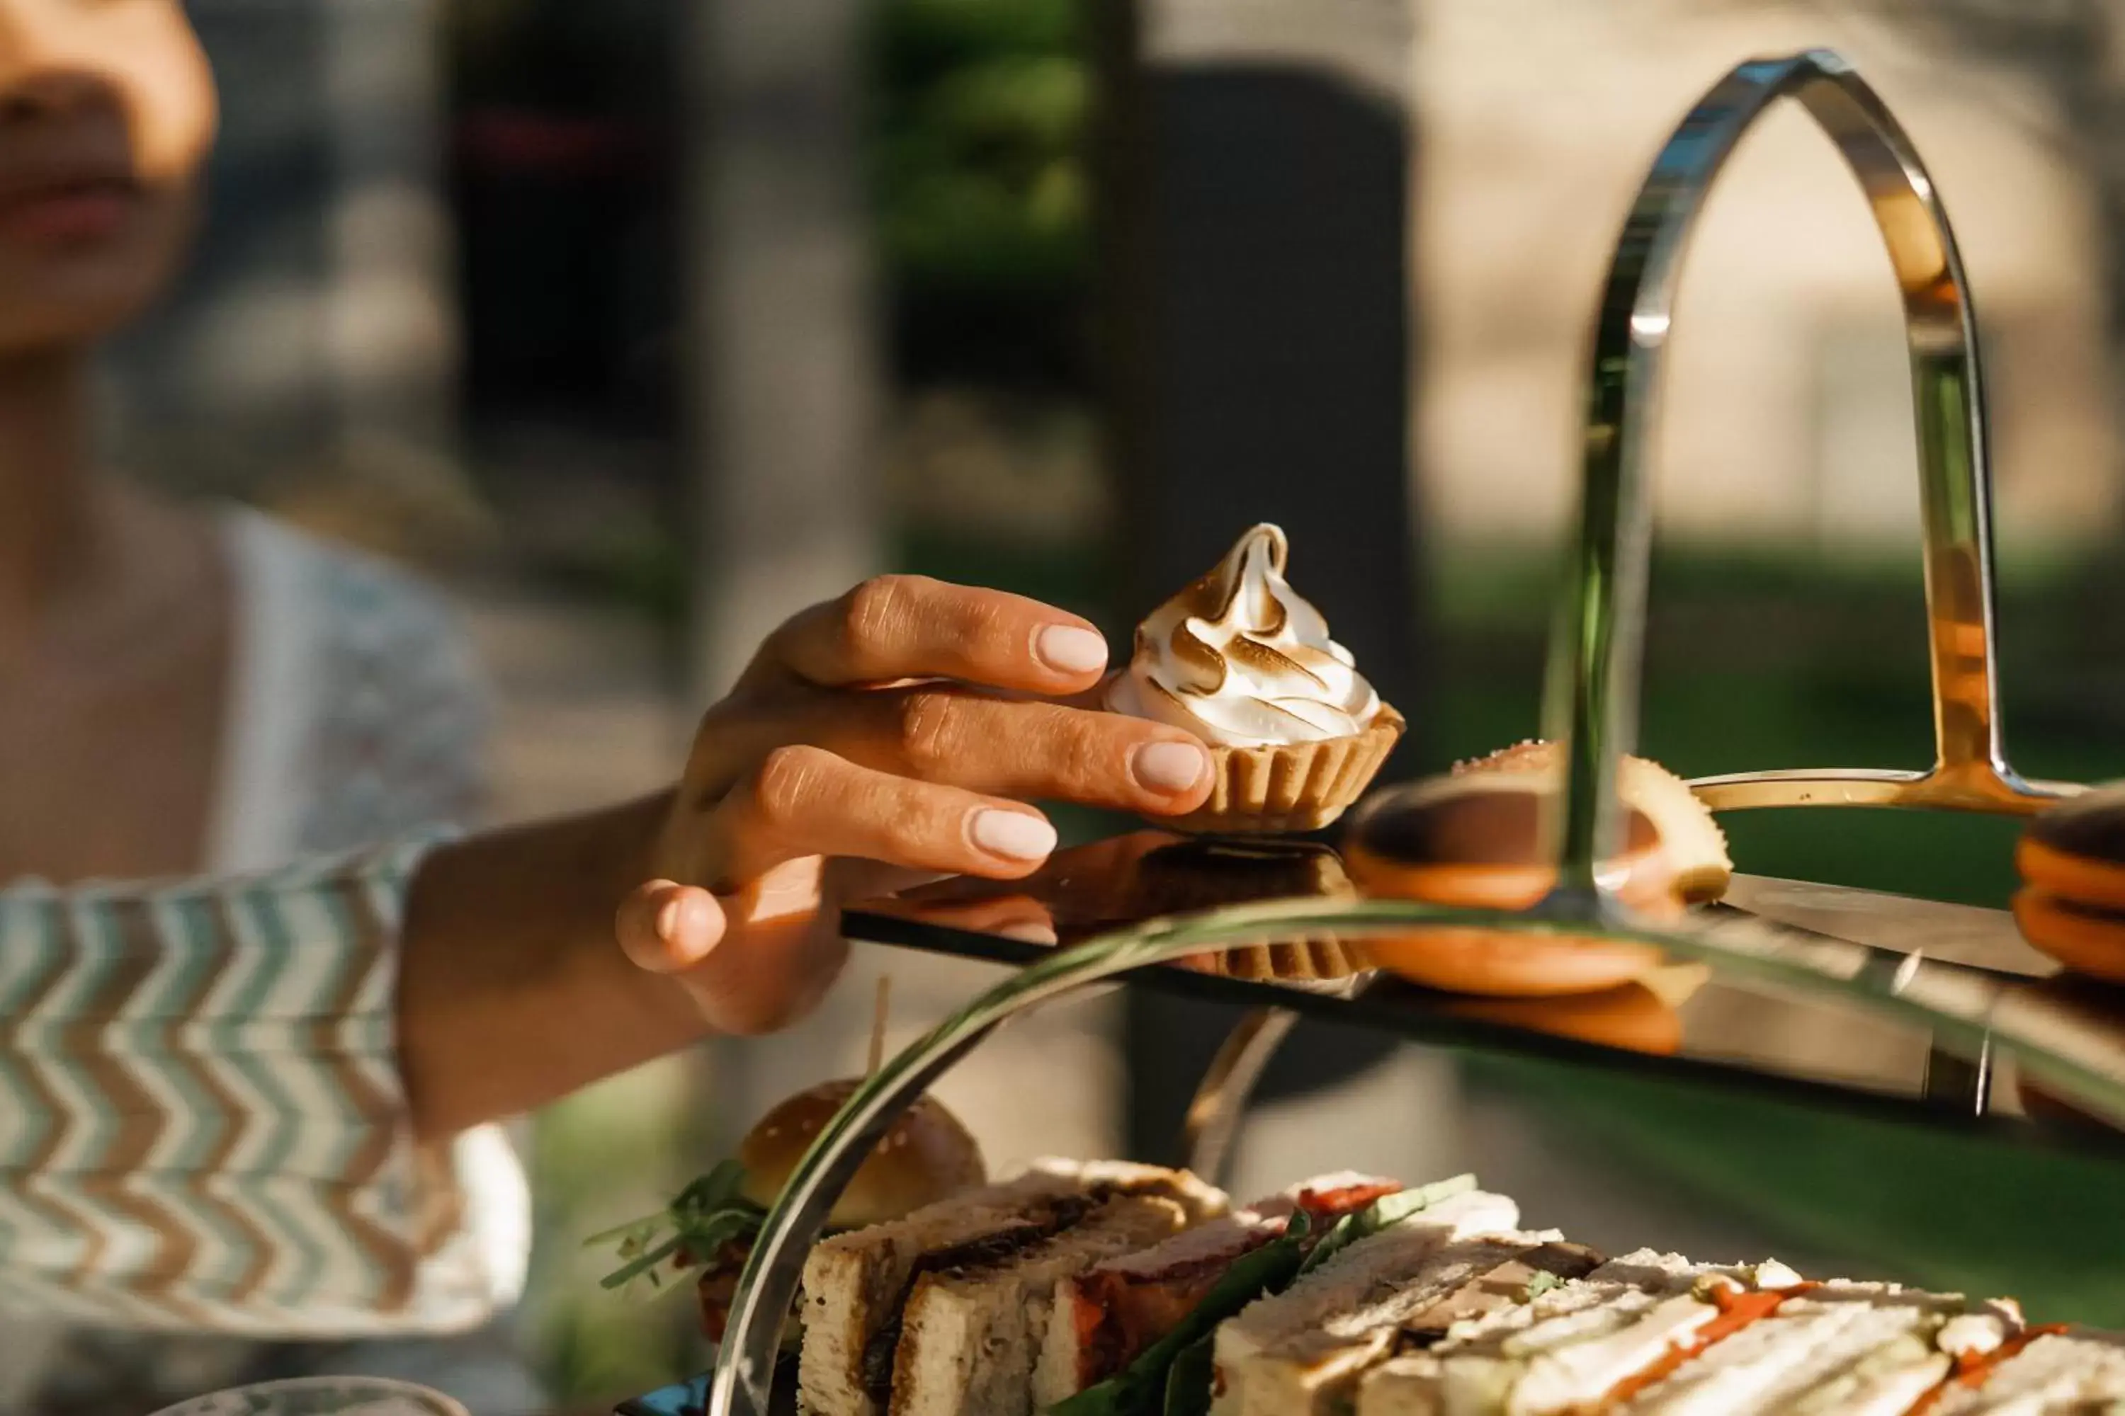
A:
{"label": "reflective top tier plate under the meringue tart", "polygon": [[952,879],[863,902],[844,930],[1022,966],[1148,921],[1237,919],[1303,896],[1315,909],[1298,934],[1235,926],[1247,943],[1118,981],[2125,1159],[2112,1129],[2125,1121],[2125,991],[2061,974],[2006,911],[1745,875],[1692,913],[1670,966],[1645,983],[1473,998],[1371,968],[1379,906],[1358,900],[1332,849],[1141,830],[1060,851],[1024,881]]}

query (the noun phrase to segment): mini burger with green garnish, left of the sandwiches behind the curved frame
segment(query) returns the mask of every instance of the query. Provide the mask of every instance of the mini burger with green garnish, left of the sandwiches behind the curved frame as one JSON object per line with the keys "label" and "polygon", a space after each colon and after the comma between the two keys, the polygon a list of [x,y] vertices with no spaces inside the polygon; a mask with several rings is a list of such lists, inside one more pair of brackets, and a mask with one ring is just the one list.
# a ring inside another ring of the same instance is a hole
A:
{"label": "mini burger with green garnish, left of the sandwiches behind the curved frame", "polygon": [[[767,1206],[858,1085],[863,1083],[856,1078],[844,1078],[799,1091],[746,1132],[733,1159],[680,1191],[661,1214],[591,1236],[593,1246],[616,1244],[625,1261],[606,1278],[606,1287],[638,1280],[663,1287],[669,1276],[686,1274],[699,1293],[701,1331],[710,1342],[720,1342],[737,1295],[737,1276]],[[939,1102],[922,1098],[892,1123],[856,1170],[827,1216],[827,1231],[844,1233],[903,1219],[971,1191],[986,1178],[982,1149],[967,1127]]]}

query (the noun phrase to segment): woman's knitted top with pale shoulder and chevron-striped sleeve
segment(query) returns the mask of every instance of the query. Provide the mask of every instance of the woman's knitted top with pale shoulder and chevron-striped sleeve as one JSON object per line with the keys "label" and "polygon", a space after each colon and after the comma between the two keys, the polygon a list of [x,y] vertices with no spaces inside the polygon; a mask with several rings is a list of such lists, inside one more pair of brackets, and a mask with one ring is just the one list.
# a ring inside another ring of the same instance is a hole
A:
{"label": "woman's knitted top with pale shoulder and chevron-striped sleeve", "polygon": [[225,531],[212,877],[0,890],[0,1416],[310,1371],[536,1410],[480,1329],[523,1284],[523,1172],[493,1127],[412,1144],[391,1034],[408,879],[478,809],[478,675],[421,586]]}

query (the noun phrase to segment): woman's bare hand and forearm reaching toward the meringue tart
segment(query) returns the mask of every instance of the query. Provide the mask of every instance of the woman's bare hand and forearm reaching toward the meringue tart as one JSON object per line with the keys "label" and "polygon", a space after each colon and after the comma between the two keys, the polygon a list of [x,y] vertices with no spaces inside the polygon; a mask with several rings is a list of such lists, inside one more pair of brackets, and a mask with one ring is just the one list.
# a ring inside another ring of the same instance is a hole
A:
{"label": "woman's bare hand and forearm reaching toward the meringue tart", "polygon": [[1075,616],[873,580],[769,637],[674,792],[436,851],[400,989],[416,1129],[788,1023],[839,968],[833,906],[876,879],[863,862],[1016,879],[1056,839],[1028,798],[1194,809],[1194,737],[1054,701],[1103,669]]}

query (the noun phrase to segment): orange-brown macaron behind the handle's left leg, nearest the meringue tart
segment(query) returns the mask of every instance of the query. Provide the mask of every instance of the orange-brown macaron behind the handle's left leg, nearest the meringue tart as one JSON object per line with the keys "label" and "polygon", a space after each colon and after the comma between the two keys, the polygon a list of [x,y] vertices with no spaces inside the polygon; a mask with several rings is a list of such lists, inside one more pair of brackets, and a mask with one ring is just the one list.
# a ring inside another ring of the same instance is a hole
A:
{"label": "orange-brown macaron behind the handle's left leg, nearest the meringue tart", "polygon": [[[1551,743],[1522,743],[1447,777],[1368,800],[1352,819],[1345,864],[1375,898],[1517,911],[1556,885],[1547,817],[1562,766]],[[1600,883],[1651,919],[1715,900],[1734,866],[1687,783],[1645,758],[1619,773],[1621,845]],[[1451,994],[1549,998],[1615,989],[1662,962],[1651,945],[1481,928],[1373,940],[1381,966]]]}

